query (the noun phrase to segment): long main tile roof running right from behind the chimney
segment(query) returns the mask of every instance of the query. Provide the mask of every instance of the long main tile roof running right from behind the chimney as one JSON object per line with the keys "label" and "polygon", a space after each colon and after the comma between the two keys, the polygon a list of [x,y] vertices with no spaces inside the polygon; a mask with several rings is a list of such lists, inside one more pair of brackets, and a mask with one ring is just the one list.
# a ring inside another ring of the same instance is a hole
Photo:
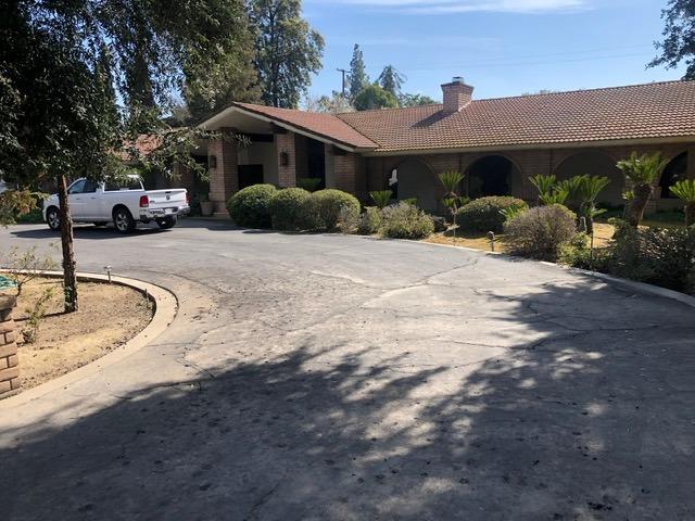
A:
{"label": "long main tile roof running right from behind the chimney", "polygon": [[340,114],[378,152],[695,138],[695,81],[478,100]]}

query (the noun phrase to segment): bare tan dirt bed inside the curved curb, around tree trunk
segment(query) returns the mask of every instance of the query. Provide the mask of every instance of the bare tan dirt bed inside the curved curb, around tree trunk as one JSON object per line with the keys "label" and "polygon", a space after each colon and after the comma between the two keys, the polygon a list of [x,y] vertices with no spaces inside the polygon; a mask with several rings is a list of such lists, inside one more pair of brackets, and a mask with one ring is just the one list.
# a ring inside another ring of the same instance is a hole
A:
{"label": "bare tan dirt bed inside the curved curb, around tree trunk", "polygon": [[142,331],[152,319],[142,294],[122,285],[80,282],[79,312],[63,314],[58,279],[28,282],[17,301],[17,332],[29,327],[29,312],[52,289],[36,341],[18,347],[22,389],[34,387],[102,357]]}

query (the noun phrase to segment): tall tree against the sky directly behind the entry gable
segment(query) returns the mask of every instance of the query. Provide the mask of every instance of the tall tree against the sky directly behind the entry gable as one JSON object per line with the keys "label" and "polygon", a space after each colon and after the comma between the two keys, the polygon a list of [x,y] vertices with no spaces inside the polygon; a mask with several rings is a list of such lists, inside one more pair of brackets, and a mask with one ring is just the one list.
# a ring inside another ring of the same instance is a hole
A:
{"label": "tall tree against the sky directly behind the entry gable", "polygon": [[311,74],[321,68],[324,38],[301,15],[300,0],[251,0],[254,64],[267,105],[296,107]]}

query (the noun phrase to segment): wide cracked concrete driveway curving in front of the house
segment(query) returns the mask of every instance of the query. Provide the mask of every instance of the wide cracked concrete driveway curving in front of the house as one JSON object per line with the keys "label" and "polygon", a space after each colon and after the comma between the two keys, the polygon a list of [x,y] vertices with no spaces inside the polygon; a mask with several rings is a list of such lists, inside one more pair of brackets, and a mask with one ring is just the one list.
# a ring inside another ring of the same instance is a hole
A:
{"label": "wide cracked concrete driveway curving in front of the house", "polygon": [[180,312],[96,377],[0,407],[3,519],[695,519],[684,304],[358,237],[76,237],[81,270],[165,285]]}

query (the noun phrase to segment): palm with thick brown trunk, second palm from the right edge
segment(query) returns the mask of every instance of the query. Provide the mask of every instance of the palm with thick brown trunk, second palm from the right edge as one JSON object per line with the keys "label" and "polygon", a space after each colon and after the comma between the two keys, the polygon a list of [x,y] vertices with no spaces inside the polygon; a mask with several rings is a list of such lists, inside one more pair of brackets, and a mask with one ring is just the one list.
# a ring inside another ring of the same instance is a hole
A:
{"label": "palm with thick brown trunk, second palm from the right edge", "polygon": [[631,226],[640,226],[644,208],[654,191],[654,183],[666,163],[660,153],[637,155],[636,152],[632,152],[628,160],[619,161],[616,165],[632,185],[629,191],[630,207],[627,212]]}

